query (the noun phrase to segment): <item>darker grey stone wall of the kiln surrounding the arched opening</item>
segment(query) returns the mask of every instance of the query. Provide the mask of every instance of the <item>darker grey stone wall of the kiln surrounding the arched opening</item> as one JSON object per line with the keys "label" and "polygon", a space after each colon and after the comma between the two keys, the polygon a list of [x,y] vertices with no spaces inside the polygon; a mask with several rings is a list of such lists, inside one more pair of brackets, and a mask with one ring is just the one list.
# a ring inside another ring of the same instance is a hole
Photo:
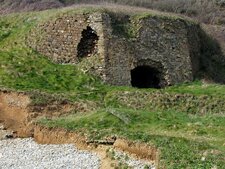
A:
{"label": "darker grey stone wall of the kiln surrounding the arched opening", "polygon": [[188,36],[184,20],[147,17],[139,20],[138,27],[135,39],[111,36],[106,55],[108,83],[131,85],[130,72],[137,66],[157,69],[162,87],[193,80],[199,48],[191,43],[198,39]]}

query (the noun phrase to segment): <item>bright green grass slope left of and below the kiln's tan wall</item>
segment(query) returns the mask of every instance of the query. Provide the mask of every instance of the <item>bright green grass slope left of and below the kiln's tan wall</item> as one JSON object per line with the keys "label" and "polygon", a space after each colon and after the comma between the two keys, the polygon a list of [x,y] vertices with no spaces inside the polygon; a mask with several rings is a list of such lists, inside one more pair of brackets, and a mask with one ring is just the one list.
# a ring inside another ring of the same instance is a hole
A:
{"label": "bright green grass slope left of and below the kiln's tan wall", "polygon": [[0,86],[18,90],[40,89],[48,92],[94,90],[99,79],[75,66],[57,65],[25,45],[32,27],[56,11],[23,13],[0,18]]}

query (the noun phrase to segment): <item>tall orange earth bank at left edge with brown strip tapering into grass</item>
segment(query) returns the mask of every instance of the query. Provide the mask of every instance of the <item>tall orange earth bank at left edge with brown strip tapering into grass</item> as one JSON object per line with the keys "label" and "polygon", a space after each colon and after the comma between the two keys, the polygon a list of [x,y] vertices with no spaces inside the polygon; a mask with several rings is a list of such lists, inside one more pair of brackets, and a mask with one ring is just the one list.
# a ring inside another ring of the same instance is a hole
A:
{"label": "tall orange earth bank at left edge with brown strip tapering into grass", "polygon": [[34,134],[35,122],[42,117],[59,117],[69,113],[77,105],[57,104],[33,105],[28,94],[0,91],[0,123],[13,130],[17,137]]}

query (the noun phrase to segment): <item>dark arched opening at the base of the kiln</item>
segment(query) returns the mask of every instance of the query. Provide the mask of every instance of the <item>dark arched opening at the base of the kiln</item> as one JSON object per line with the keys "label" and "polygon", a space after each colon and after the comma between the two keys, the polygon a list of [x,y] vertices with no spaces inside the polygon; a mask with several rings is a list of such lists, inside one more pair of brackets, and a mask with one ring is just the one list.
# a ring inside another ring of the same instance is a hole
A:
{"label": "dark arched opening at the base of the kiln", "polygon": [[161,88],[160,72],[150,66],[138,66],[131,70],[131,85],[137,88]]}

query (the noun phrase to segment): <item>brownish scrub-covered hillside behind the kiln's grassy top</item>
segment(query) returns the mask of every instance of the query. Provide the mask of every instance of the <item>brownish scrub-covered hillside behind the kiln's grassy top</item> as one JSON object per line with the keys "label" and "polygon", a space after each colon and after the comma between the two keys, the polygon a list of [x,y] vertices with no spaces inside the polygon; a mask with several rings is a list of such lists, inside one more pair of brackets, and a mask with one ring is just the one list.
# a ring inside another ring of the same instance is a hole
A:
{"label": "brownish scrub-covered hillside behind the kiln's grassy top", "polygon": [[112,3],[183,14],[207,24],[225,24],[225,0],[0,0],[0,13]]}

